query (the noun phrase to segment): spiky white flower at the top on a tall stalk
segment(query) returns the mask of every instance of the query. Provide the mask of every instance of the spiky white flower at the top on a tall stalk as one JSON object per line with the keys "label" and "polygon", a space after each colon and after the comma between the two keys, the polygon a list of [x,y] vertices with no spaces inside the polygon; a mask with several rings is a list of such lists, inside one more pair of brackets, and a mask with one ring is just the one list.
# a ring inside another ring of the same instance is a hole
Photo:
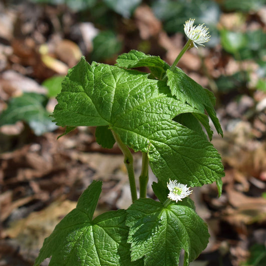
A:
{"label": "spiky white flower at the top on a tall stalk", "polygon": [[184,31],[189,39],[193,41],[193,44],[196,48],[197,44],[205,46],[203,43],[208,42],[210,40],[211,35],[209,35],[209,31],[206,26],[203,24],[199,24],[198,26],[193,26],[195,19],[189,19],[184,24]]}

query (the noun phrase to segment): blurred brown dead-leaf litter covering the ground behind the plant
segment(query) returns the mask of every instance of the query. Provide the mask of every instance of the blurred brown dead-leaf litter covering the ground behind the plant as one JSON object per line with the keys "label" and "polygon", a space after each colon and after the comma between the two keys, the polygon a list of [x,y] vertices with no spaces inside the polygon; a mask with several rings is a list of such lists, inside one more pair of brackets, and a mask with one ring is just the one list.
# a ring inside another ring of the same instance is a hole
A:
{"label": "blurred brown dead-leaf litter covering the ground behind the plant", "polygon": [[[0,3],[0,7],[4,18],[0,20],[1,112],[11,97],[26,91],[46,92],[41,82],[53,75],[65,75],[81,54],[90,60],[91,36],[97,28],[79,22],[76,13],[61,5],[22,2]],[[260,13],[253,16],[246,27],[253,23],[265,30]],[[232,24],[234,19],[225,13],[220,23]],[[171,63],[185,41],[181,33],[169,36],[147,5],[138,7],[132,18],[117,23],[125,52],[148,45],[148,53]],[[104,61],[112,64],[115,58]],[[252,61],[240,65],[220,45],[190,50],[179,66],[216,93],[217,113],[225,133],[223,139],[215,135],[212,141],[225,166],[223,195],[217,198],[215,184],[195,189],[192,194],[211,234],[199,260],[208,266],[238,266],[248,258],[254,244],[266,242],[266,93],[251,90],[238,79],[236,90],[218,90],[215,78],[233,75],[240,68],[257,67]],[[256,71],[253,76],[257,78]],[[55,103],[50,97],[48,111]],[[32,265],[43,239],[75,207],[94,179],[105,181],[99,213],[130,205],[122,155],[117,147],[104,150],[98,146],[94,130],[80,127],[56,140],[62,129],[36,136],[23,122],[0,128],[1,266]],[[141,155],[134,156],[138,173]],[[152,182],[154,176],[150,176]],[[153,197],[152,191],[148,194]]]}

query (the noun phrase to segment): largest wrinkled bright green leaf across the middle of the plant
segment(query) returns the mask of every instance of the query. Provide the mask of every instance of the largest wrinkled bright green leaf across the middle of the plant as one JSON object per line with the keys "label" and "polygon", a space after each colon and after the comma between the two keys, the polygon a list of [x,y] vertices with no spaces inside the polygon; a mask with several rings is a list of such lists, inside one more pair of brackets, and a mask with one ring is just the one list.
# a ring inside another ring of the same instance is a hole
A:
{"label": "largest wrinkled bright green leaf across the middle of the plant", "polygon": [[165,81],[147,73],[92,63],[84,58],[69,71],[53,117],[60,126],[109,126],[135,151],[147,152],[157,178],[189,186],[224,176],[220,155],[207,139],[172,119],[205,116],[172,96]]}

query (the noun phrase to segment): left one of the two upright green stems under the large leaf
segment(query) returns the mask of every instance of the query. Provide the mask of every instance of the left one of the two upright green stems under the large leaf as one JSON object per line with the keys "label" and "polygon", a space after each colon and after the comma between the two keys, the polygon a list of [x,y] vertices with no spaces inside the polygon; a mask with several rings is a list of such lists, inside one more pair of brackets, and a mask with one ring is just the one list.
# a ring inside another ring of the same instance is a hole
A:
{"label": "left one of the two upright green stems under the large leaf", "polygon": [[128,178],[129,178],[129,185],[130,185],[130,191],[131,191],[131,198],[132,202],[138,199],[137,197],[137,189],[136,189],[136,183],[135,183],[135,174],[134,174],[134,168],[133,168],[133,156],[130,152],[127,145],[125,145],[120,137],[112,130],[113,136],[115,141],[117,142],[120,150],[124,154],[124,163],[127,168]]}

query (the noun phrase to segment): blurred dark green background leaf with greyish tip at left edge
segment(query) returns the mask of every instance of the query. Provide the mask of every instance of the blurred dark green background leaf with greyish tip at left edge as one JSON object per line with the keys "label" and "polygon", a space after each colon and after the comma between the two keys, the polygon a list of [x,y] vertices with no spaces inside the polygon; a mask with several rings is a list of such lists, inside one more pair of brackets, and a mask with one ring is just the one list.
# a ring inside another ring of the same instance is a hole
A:
{"label": "blurred dark green background leaf with greyish tip at left edge", "polygon": [[33,92],[11,98],[7,108],[0,114],[0,126],[22,120],[28,123],[36,135],[54,130],[56,126],[45,109],[47,101],[45,95]]}

